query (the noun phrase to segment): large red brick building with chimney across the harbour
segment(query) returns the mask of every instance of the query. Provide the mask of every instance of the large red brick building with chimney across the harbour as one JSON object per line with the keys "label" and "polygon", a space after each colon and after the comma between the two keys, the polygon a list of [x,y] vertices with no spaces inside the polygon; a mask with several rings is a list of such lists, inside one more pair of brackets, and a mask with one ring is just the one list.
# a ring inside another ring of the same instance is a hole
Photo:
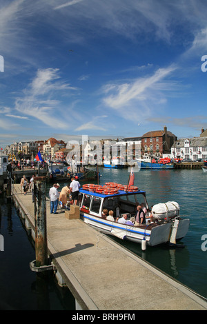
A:
{"label": "large red brick building with chimney across the harbour", "polygon": [[170,149],[177,136],[169,132],[164,126],[164,130],[152,130],[141,136],[141,155],[153,154],[161,156],[170,154]]}

